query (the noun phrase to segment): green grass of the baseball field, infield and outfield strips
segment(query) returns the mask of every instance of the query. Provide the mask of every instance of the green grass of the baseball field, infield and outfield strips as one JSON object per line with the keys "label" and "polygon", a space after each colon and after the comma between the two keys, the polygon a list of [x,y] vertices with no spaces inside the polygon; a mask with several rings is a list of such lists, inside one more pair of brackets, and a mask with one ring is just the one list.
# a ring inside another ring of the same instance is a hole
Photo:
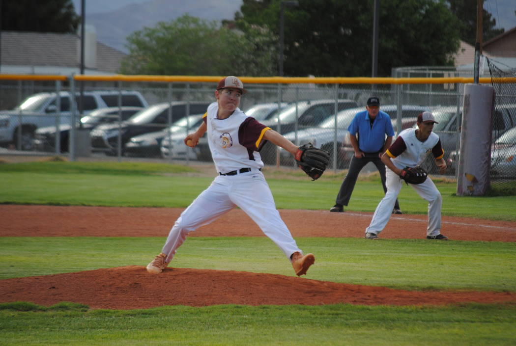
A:
{"label": "green grass of the baseball field, infield and outfield strips", "polygon": [[[311,182],[299,172],[265,174],[280,209],[327,209],[343,178],[328,174]],[[0,203],[186,207],[212,179],[170,164],[0,164]],[[515,196],[457,197],[454,183],[437,185],[443,215],[516,221]],[[348,209],[373,211],[382,195],[378,177],[362,179]],[[426,213],[425,202],[410,188],[402,189],[400,204],[407,213]],[[3,217],[2,227],[8,224],[8,216]],[[516,291],[514,243],[296,240],[317,254],[311,279],[412,290]],[[159,237],[3,237],[0,279],[146,265],[163,242]],[[174,266],[293,275],[276,245],[263,237],[192,237]],[[174,294],[173,287],[164,289]],[[144,310],[0,304],[0,345],[514,345],[515,335],[516,304]]]}

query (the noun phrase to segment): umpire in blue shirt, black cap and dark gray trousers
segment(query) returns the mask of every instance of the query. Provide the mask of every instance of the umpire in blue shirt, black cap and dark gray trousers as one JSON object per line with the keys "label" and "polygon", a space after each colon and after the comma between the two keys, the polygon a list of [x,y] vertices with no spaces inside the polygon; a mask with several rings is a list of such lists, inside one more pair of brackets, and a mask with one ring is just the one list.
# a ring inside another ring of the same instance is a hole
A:
{"label": "umpire in blue shirt, black cap and dark gray trousers", "polygon": [[[353,146],[354,156],[351,158],[348,174],[342,182],[340,191],[338,191],[335,205],[330,209],[333,212],[344,211],[344,206],[348,205],[354,185],[357,183],[358,174],[369,162],[373,162],[378,172],[380,172],[383,191],[387,192],[385,187],[385,164],[381,157],[391,146],[394,129],[389,114],[380,110],[380,98],[377,96],[369,97],[365,109],[354,116],[348,127],[349,140]],[[401,214],[397,199],[393,213]]]}

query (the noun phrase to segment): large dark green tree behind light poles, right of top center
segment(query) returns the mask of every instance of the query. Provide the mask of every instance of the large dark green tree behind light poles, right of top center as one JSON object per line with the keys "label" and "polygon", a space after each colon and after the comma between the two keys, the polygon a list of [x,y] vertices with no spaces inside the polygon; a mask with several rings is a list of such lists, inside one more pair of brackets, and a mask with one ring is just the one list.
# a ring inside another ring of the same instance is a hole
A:
{"label": "large dark green tree behind light poles, right of top center", "polygon": [[[244,0],[237,23],[266,25],[279,35],[280,0]],[[378,75],[407,65],[451,65],[457,20],[444,0],[381,0]],[[284,11],[284,73],[368,76],[373,0],[299,0]]]}

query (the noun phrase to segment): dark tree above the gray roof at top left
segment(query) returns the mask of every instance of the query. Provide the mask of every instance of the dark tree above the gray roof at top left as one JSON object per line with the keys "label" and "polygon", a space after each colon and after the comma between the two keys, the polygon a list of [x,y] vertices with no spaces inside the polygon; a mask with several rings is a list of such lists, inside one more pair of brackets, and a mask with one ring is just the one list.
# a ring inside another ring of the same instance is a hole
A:
{"label": "dark tree above the gray roof at top left", "polygon": [[2,30],[74,33],[80,22],[71,0],[4,0]]}

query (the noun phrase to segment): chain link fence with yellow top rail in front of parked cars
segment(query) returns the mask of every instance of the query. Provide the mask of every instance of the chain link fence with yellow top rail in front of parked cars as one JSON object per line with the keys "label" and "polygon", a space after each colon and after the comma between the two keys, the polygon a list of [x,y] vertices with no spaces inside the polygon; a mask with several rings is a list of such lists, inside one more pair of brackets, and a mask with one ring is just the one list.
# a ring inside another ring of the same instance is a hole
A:
{"label": "chain link fence with yellow top rail in front of parked cars", "polygon": [[[430,110],[439,121],[434,131],[445,150],[446,175],[454,178],[463,90],[472,78],[453,70],[421,68],[396,70],[393,75],[396,78],[243,77],[249,92],[242,97],[240,108],[296,144],[311,142],[326,149],[332,158],[330,169],[335,171],[349,166],[353,150],[347,127],[354,114],[365,109],[368,97],[380,97],[380,109],[390,115],[396,133],[414,126],[417,114]],[[0,112],[4,153],[41,152],[69,155],[72,160],[109,155],[119,160],[211,161],[205,138],[193,149],[183,144],[183,138],[199,126],[206,106],[215,101],[214,86],[219,77],[101,77],[0,78],[0,105],[11,109]],[[481,78],[480,82],[491,83],[491,79]],[[493,77],[492,85],[497,95],[492,180],[503,178],[514,183],[516,79],[507,83]],[[39,93],[49,97],[23,103]],[[56,93],[61,97],[55,97]],[[134,101],[140,97],[143,102]],[[19,105],[22,107],[17,108]],[[292,155],[275,145],[265,145],[261,155],[267,166],[295,166]],[[427,160],[425,167],[437,174],[433,160]]]}

